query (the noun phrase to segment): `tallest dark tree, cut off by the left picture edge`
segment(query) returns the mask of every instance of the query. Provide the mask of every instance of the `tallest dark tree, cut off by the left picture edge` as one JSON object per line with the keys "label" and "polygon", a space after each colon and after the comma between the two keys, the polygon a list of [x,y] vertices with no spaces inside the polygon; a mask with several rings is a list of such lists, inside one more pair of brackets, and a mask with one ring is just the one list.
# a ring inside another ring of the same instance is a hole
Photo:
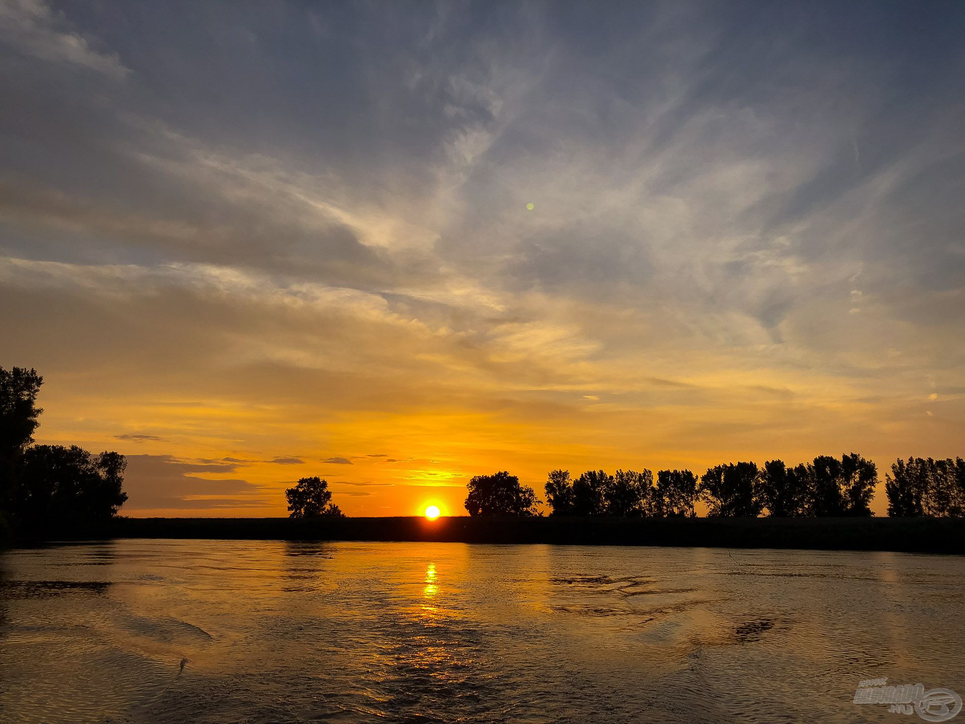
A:
{"label": "tallest dark tree, cut off by the left picture edge", "polygon": [[0,367],[0,493],[10,493],[27,446],[40,424],[37,406],[43,377],[36,370]]}

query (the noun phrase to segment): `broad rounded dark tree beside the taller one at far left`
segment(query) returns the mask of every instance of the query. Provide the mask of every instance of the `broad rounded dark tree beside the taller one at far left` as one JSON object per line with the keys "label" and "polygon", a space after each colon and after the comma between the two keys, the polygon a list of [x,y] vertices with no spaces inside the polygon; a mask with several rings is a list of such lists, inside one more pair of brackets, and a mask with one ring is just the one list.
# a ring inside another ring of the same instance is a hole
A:
{"label": "broad rounded dark tree beside the taller one at far left", "polygon": [[24,453],[11,510],[23,520],[45,525],[117,515],[127,500],[126,465],[118,453],[92,455],[76,445],[34,445]]}

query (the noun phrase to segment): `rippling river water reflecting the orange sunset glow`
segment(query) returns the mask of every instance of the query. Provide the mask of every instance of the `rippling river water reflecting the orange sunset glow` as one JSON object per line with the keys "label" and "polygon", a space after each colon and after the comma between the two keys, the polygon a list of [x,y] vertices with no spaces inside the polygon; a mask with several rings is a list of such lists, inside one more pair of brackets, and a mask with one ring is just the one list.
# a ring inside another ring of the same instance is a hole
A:
{"label": "rippling river water reflecting the orange sunset glow", "polygon": [[[965,558],[118,541],[0,554],[0,720],[920,721]],[[965,714],[959,718],[965,719]]]}

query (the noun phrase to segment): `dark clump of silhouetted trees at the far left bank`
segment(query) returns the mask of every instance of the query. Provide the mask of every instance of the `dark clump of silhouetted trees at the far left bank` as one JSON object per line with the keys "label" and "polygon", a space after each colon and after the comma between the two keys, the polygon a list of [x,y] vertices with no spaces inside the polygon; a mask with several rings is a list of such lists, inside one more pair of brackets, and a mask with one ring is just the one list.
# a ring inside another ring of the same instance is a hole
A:
{"label": "dark clump of silhouetted trees at the far left bank", "polygon": [[117,515],[127,499],[123,455],[34,444],[41,384],[36,370],[0,367],[0,523],[35,533]]}

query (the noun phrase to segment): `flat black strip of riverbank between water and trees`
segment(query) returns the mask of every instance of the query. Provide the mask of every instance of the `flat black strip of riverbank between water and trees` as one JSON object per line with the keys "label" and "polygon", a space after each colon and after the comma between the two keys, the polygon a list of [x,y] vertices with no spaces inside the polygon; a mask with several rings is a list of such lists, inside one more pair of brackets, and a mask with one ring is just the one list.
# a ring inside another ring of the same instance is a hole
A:
{"label": "flat black strip of riverbank between water and trees", "polygon": [[965,553],[965,519],[925,517],[119,517],[97,526],[36,533],[31,536],[34,542],[115,538],[425,541]]}

